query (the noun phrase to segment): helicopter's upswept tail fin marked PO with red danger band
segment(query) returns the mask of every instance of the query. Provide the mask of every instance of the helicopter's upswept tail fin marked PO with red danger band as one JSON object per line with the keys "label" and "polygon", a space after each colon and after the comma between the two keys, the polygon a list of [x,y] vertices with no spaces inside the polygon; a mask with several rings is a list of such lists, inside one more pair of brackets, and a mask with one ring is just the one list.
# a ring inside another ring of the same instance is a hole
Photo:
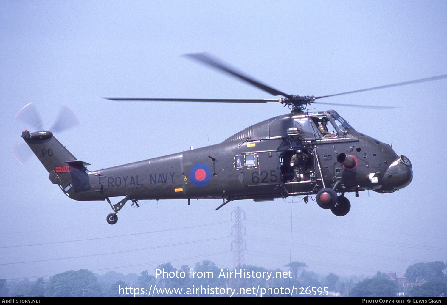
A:
{"label": "helicopter's upswept tail fin marked PO with red danger band", "polygon": [[88,170],[85,168],[89,164],[77,160],[51,132],[24,131],[22,138],[50,173],[50,181],[59,185],[67,196],[72,197],[75,193],[91,189]]}

